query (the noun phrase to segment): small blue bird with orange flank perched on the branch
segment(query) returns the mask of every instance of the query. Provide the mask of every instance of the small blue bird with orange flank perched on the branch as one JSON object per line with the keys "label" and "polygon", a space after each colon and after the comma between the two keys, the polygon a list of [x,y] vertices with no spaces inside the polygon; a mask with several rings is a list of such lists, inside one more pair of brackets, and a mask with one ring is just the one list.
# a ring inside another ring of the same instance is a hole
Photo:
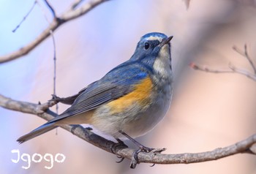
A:
{"label": "small blue bird with orange flank perched on the branch", "polygon": [[[78,94],[55,100],[70,104],[64,113],[23,135],[26,142],[63,124],[91,124],[99,131],[120,138],[145,135],[167,113],[172,99],[173,72],[170,40],[162,33],[141,37],[128,61],[110,70]],[[151,151],[140,143],[142,151]]]}

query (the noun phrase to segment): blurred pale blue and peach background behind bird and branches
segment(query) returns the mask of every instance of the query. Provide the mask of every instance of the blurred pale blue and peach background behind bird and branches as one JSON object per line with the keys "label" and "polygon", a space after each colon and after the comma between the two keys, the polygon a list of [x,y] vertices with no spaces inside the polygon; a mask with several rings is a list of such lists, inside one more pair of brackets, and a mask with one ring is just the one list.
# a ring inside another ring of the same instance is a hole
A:
{"label": "blurred pale blue and peach background behind bird and branches", "polygon": [[[46,15],[52,16],[42,4]],[[84,3],[86,3],[85,1]],[[22,48],[47,26],[44,12],[36,6],[20,28],[15,26],[34,1],[0,0],[0,56]],[[61,15],[70,0],[51,0]],[[167,154],[211,151],[244,140],[256,132],[256,82],[238,74],[211,74],[191,69],[189,63],[212,69],[236,67],[251,71],[236,45],[256,61],[256,1],[116,0],[99,5],[77,20],[61,26],[56,39],[56,91],[67,97],[98,80],[113,67],[132,56],[141,36],[158,31],[173,35],[173,102],[167,116],[153,131],[138,138],[148,147],[165,147]],[[255,62],[256,63],[256,62]],[[47,102],[53,94],[53,42],[49,37],[27,56],[0,64],[0,93],[27,102]],[[59,113],[67,109],[59,105]],[[52,110],[55,110],[52,108]],[[199,164],[138,164],[129,169],[129,160],[102,151],[69,132],[58,129],[18,145],[16,140],[45,120],[34,115],[0,107],[0,173],[256,173],[256,157],[238,154]],[[57,154],[64,163],[13,163],[21,154]]]}

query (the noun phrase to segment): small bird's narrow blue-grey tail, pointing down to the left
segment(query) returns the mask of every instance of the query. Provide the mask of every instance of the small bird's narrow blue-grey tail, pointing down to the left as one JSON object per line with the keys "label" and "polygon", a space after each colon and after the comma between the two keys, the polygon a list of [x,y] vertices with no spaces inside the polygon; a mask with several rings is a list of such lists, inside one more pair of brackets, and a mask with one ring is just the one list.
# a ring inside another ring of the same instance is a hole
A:
{"label": "small bird's narrow blue-grey tail, pointing down to the left", "polygon": [[43,124],[42,126],[37,127],[37,129],[32,130],[32,131],[29,132],[28,134],[23,135],[22,137],[19,137],[17,141],[18,141],[18,143],[20,143],[20,144],[21,144],[21,143],[24,143],[24,142],[26,142],[27,140],[30,140],[30,139],[32,139],[32,138],[34,138],[34,137],[37,137],[37,136],[39,136],[39,135],[42,135],[42,134],[44,134],[45,132],[48,132],[48,131],[50,131],[50,130],[56,128],[56,127],[58,127],[58,126],[56,126],[56,125],[54,124],[54,122],[53,122],[53,123],[46,123],[46,124]]}

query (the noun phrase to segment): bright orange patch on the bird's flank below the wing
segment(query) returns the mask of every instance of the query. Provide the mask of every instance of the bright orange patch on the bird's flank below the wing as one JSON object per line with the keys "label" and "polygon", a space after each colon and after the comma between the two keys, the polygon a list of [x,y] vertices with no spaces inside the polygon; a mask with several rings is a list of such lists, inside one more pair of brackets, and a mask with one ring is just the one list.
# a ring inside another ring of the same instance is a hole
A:
{"label": "bright orange patch on the bird's flank below the wing", "polygon": [[139,105],[148,104],[148,102],[150,102],[149,97],[151,94],[152,86],[153,83],[150,77],[146,77],[145,79],[141,80],[140,83],[135,85],[134,91],[108,103],[108,106],[111,108],[111,112],[121,113],[135,102],[137,102]]}

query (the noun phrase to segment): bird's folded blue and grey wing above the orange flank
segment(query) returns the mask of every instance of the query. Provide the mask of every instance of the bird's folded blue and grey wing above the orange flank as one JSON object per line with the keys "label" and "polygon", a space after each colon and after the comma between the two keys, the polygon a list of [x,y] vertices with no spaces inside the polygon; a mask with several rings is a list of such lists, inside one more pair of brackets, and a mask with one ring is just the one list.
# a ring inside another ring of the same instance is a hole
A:
{"label": "bird's folded blue and grey wing above the orange flank", "polygon": [[61,113],[60,116],[48,121],[47,124],[60,121],[69,116],[85,113],[86,111],[99,107],[99,105],[122,97],[132,91],[135,84],[148,76],[146,71],[138,67],[131,68],[128,66],[125,69],[126,71],[124,71],[124,67],[122,67],[120,73],[120,69],[117,67],[108,72],[101,80],[91,83],[91,85],[87,86],[87,88],[80,93],[71,107],[65,110],[64,113]]}

